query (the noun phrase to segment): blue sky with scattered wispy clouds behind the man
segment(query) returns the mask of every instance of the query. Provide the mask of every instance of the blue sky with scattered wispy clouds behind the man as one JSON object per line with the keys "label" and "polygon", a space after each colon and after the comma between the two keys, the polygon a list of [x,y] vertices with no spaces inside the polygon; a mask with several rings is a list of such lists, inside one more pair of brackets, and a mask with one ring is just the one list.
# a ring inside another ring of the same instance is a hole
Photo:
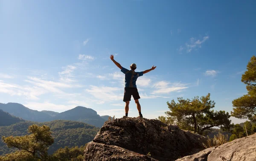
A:
{"label": "blue sky with scattered wispy clouds behind the man", "polygon": [[[124,115],[123,78],[137,71],[143,116],[211,93],[232,110],[255,55],[256,2],[238,0],[0,0],[0,102],[62,112],[78,105]],[[134,102],[129,116],[138,116]],[[232,119],[234,123],[243,120]]]}

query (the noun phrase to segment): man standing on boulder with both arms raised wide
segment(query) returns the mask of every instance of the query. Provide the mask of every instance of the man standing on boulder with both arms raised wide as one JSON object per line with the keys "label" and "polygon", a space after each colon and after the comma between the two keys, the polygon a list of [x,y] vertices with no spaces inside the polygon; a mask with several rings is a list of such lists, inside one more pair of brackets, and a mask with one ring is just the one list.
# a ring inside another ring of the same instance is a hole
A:
{"label": "man standing on boulder with both arms raised wide", "polygon": [[137,66],[136,64],[131,64],[130,66],[131,70],[129,71],[128,69],[123,68],[118,62],[116,62],[114,60],[113,55],[110,56],[110,59],[125,74],[125,93],[124,93],[124,99],[123,99],[123,102],[125,102],[125,116],[128,117],[129,103],[131,101],[131,96],[133,96],[135,103],[137,105],[137,109],[139,111],[139,117],[143,117],[141,114],[141,107],[139,102],[140,95],[137,90],[136,81],[139,76],[143,76],[143,74],[148,73],[157,67],[154,67],[153,65],[151,69],[145,70],[143,72],[135,72],[135,69],[137,68]]}

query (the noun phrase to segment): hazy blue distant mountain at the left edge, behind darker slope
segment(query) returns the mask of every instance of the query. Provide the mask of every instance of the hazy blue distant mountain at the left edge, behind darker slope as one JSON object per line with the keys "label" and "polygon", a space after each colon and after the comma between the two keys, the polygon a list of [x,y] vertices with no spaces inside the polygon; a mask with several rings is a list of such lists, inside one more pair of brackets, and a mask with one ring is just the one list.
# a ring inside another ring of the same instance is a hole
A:
{"label": "hazy blue distant mountain at the left edge, behind darker slope", "polygon": [[51,117],[49,114],[40,112],[38,110],[31,110],[19,103],[0,103],[0,109],[10,113],[13,116],[20,117],[24,120],[44,122],[50,121]]}

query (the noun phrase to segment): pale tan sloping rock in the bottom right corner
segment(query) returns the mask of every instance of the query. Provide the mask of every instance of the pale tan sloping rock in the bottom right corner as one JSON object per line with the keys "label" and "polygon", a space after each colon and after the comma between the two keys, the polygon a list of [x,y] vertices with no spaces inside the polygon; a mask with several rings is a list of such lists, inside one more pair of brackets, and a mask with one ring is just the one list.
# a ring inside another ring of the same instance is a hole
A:
{"label": "pale tan sloping rock in the bottom right corner", "polygon": [[211,147],[176,161],[256,161],[256,134]]}

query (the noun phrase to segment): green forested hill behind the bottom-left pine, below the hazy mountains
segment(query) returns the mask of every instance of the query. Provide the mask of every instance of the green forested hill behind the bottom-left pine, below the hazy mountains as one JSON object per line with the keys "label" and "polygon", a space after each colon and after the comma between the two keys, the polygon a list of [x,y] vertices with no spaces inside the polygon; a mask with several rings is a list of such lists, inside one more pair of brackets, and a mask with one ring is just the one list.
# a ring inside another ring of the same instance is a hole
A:
{"label": "green forested hill behind the bottom-left pine, below the hazy mountains", "polygon": [[[0,138],[2,138],[2,136],[27,135],[27,129],[32,124],[38,124],[40,126],[45,124],[50,127],[54,138],[54,144],[49,147],[49,154],[54,153],[60,147],[84,146],[89,141],[92,141],[99,131],[98,127],[78,121],[55,120],[43,123],[20,121],[10,126],[0,127]],[[6,144],[3,143],[2,139],[0,139],[0,155],[12,153],[14,151],[15,149],[8,148]]]}

